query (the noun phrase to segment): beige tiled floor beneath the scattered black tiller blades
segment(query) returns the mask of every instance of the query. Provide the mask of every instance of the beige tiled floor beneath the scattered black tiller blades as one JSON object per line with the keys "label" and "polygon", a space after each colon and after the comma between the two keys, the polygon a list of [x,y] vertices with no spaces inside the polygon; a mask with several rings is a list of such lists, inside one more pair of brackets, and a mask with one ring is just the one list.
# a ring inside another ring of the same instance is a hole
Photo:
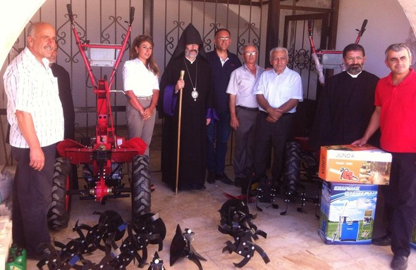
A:
{"label": "beige tiled floor beneath the scattered black tiller blades", "polygon": [[[227,167],[227,173],[233,176],[232,167]],[[159,252],[166,269],[197,269],[196,264],[185,257],[169,266],[171,240],[177,224],[182,229],[189,228],[195,231],[192,247],[207,259],[206,262],[202,262],[203,269],[238,269],[233,266],[233,262],[240,262],[243,257],[235,253],[222,252],[224,243],[233,239],[218,231],[220,215],[217,210],[227,200],[223,192],[238,195],[240,189],[217,181],[215,184],[206,184],[206,191],[183,191],[175,195],[161,183],[160,173],[152,173],[152,179],[157,186],[156,191],[152,193],[152,212],[159,213],[166,224],[164,248]],[[262,204],[263,212],[256,210],[254,203],[249,204],[250,213],[257,214],[253,223],[267,233],[266,239],[260,237],[255,243],[267,253],[271,261],[265,264],[256,252],[243,269],[390,269],[392,253],[389,247],[325,245],[317,233],[319,220],[314,215],[313,203],[306,203],[305,212],[296,210],[298,202],[290,203],[286,215],[280,214],[283,211],[283,200],[278,199],[276,203],[279,203],[279,209]],[[97,224],[98,216],[92,212],[104,210],[114,210],[128,221],[130,209],[130,198],[109,200],[106,205],[100,205],[95,201],[80,201],[74,196],[69,226],[73,226],[76,221],[91,226]],[[380,222],[378,224],[380,225]],[[381,234],[382,231],[381,226],[377,226],[375,233]],[[71,238],[78,238],[71,228],[51,231],[51,235],[62,243],[68,243]],[[149,260],[155,251],[157,245],[148,245]],[[92,255],[86,255],[85,259],[99,262],[102,257],[104,253],[96,251]],[[29,260],[27,269],[36,269],[35,263]],[[148,266],[145,266],[144,269],[147,268]],[[137,269],[137,264],[130,264],[128,269]],[[416,269],[414,254],[410,255],[408,269]]]}

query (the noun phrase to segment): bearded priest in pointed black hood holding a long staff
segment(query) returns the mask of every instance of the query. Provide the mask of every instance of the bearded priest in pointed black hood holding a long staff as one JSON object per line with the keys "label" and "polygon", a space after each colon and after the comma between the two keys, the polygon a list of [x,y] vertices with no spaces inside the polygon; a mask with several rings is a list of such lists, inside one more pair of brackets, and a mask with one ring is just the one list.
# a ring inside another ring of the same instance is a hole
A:
{"label": "bearded priest in pointed black hood holding a long staff", "polygon": [[[185,71],[181,79],[181,70]],[[183,30],[160,82],[159,113],[164,117],[161,144],[162,181],[176,188],[179,99],[182,96],[179,190],[204,190],[207,124],[214,112],[211,70],[200,33]]]}

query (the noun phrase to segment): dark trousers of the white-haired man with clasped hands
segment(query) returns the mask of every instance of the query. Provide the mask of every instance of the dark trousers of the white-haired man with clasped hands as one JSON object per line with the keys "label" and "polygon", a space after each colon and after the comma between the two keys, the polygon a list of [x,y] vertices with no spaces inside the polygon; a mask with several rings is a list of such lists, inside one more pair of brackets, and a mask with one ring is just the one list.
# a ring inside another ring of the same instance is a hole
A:
{"label": "dark trousers of the white-haired man with clasped hands", "polygon": [[283,153],[286,141],[292,131],[293,113],[282,115],[274,123],[266,120],[267,113],[261,112],[256,123],[255,174],[256,178],[267,176],[269,153],[273,147],[274,161],[271,166],[271,177],[274,184],[281,185],[283,174]]}

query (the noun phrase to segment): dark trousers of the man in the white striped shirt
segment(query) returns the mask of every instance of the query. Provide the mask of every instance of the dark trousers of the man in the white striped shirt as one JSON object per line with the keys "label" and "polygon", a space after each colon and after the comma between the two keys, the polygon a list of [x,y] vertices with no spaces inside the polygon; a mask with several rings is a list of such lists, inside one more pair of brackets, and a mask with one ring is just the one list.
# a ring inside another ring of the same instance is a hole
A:
{"label": "dark trousers of the man in the white striped shirt", "polygon": [[29,166],[29,148],[11,148],[17,160],[13,182],[13,243],[27,250],[27,255],[42,254],[40,243],[50,243],[47,212],[51,205],[56,144],[42,147],[44,168],[39,172]]}

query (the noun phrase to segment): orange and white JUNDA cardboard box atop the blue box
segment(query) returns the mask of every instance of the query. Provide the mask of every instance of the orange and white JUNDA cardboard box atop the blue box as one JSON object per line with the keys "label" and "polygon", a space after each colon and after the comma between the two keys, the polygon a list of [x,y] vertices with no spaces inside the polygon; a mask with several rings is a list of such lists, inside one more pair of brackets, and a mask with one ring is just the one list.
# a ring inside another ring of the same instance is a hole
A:
{"label": "orange and white JUNDA cardboard box atop the blue box", "polygon": [[322,146],[319,177],[350,184],[388,185],[391,153],[374,146]]}

